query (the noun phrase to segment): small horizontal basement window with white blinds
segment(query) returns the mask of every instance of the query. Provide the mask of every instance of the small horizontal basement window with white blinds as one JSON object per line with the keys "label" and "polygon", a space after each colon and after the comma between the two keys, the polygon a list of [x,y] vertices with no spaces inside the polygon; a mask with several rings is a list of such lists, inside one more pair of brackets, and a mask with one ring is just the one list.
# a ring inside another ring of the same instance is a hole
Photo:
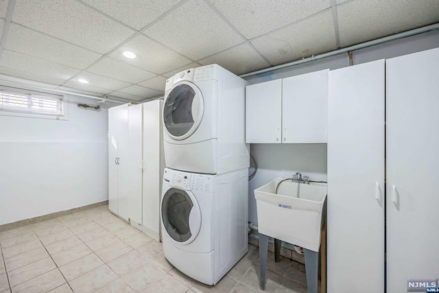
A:
{"label": "small horizontal basement window with white blinds", "polygon": [[1,115],[66,119],[64,96],[0,86]]}

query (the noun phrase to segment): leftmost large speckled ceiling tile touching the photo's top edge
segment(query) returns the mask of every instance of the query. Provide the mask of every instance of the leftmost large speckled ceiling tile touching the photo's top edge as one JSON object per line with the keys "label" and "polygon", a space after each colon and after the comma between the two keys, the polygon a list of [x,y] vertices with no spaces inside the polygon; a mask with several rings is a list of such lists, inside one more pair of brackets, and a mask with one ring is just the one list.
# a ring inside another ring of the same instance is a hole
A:
{"label": "leftmost large speckled ceiling tile touching the photo's top edge", "polygon": [[71,0],[17,0],[12,21],[103,54],[133,34],[128,27]]}

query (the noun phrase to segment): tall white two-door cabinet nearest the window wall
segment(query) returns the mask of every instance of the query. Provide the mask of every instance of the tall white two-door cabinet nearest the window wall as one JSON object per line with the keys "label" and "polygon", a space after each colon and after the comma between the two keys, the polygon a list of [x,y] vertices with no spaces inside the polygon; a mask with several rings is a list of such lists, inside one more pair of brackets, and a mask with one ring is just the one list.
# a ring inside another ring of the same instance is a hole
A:
{"label": "tall white two-door cabinet nearest the window wall", "polygon": [[108,209],[128,221],[128,104],[108,109]]}

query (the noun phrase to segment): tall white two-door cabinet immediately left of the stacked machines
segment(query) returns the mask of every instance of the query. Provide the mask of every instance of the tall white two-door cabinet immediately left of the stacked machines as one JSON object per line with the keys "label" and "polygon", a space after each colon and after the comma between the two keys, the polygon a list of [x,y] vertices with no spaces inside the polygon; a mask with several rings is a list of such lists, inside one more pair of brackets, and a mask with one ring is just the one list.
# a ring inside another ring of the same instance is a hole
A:
{"label": "tall white two-door cabinet immediately left of the stacked machines", "polygon": [[130,223],[160,239],[163,156],[163,100],[130,106],[128,118],[128,166]]}

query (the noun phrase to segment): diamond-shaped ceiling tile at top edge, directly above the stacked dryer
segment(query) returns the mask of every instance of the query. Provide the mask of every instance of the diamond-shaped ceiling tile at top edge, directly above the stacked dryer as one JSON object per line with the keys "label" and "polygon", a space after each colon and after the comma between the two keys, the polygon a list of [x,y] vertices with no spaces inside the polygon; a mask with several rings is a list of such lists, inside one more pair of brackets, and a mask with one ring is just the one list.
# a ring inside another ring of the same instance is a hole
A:
{"label": "diamond-shaped ceiling tile at top edge, directly above the stacked dryer", "polygon": [[202,0],[187,1],[143,33],[193,60],[243,41]]}

